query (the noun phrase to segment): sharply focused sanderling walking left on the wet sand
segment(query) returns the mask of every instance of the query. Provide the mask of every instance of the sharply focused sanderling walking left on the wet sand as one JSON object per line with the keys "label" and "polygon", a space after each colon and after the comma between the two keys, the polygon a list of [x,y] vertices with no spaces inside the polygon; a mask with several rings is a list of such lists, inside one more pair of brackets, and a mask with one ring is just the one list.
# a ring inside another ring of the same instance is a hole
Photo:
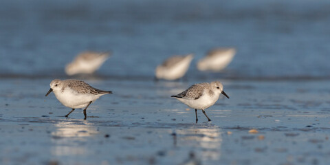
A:
{"label": "sharply focused sanderling walking left on the wet sand", "polygon": [[47,92],[46,96],[52,91],[54,91],[57,100],[65,105],[65,107],[72,108],[72,111],[65,115],[65,117],[69,116],[74,109],[85,107],[85,120],[87,118],[86,109],[91,102],[94,102],[96,99],[100,98],[100,96],[105,94],[112,94],[112,91],[102,91],[91,87],[91,85],[82,80],[74,79],[52,80],[50,83],[50,91]]}

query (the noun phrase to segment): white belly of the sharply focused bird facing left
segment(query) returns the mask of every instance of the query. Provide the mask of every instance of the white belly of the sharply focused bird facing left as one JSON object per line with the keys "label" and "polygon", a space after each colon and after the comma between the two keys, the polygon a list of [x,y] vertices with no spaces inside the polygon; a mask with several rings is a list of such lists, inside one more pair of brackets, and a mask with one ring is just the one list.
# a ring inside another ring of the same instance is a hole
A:
{"label": "white belly of the sharply focused bird facing left", "polygon": [[69,88],[66,88],[63,92],[54,91],[54,94],[65,107],[72,109],[85,108],[89,102],[94,102],[100,97],[93,94],[78,94]]}

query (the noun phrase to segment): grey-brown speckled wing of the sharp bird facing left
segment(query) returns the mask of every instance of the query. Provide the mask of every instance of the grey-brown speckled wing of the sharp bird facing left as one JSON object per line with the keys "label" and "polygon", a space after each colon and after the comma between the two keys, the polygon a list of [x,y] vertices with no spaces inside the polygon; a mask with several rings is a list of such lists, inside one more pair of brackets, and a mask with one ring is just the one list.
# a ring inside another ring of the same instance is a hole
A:
{"label": "grey-brown speckled wing of the sharp bird facing left", "polygon": [[68,87],[74,89],[80,94],[112,94],[111,91],[103,91],[100,89],[96,89],[91,87],[91,85],[81,81],[81,80],[71,80],[68,82]]}

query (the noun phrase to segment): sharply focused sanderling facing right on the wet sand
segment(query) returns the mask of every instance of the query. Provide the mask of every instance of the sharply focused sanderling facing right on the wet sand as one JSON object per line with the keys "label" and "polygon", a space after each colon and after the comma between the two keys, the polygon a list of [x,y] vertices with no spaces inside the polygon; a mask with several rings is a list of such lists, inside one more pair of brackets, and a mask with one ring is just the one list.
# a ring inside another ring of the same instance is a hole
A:
{"label": "sharply focused sanderling facing right on the wet sand", "polygon": [[[182,91],[180,94],[170,97],[175,97],[177,100],[188,105],[188,107],[195,109],[197,123],[197,109],[201,109],[206,118],[208,118],[208,115],[206,115],[204,109],[211,107],[215,102],[217,102],[220,94],[223,94],[225,97],[229,98],[229,96],[223,91],[223,85],[219,81],[214,81],[211,83],[192,85],[186,89],[186,91]],[[208,121],[211,121],[210,118],[208,118]]]}

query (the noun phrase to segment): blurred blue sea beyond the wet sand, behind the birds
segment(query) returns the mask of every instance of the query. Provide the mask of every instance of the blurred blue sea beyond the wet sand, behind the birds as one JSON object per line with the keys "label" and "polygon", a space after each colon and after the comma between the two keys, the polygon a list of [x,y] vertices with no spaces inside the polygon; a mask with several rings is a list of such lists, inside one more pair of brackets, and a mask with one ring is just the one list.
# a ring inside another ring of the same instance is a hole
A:
{"label": "blurred blue sea beyond the wet sand, behind the birds", "polygon": [[329,78],[330,1],[2,0],[0,76],[65,76],[85,50],[113,56],[98,74],[153,78],[173,54],[236,47],[217,78]]}

